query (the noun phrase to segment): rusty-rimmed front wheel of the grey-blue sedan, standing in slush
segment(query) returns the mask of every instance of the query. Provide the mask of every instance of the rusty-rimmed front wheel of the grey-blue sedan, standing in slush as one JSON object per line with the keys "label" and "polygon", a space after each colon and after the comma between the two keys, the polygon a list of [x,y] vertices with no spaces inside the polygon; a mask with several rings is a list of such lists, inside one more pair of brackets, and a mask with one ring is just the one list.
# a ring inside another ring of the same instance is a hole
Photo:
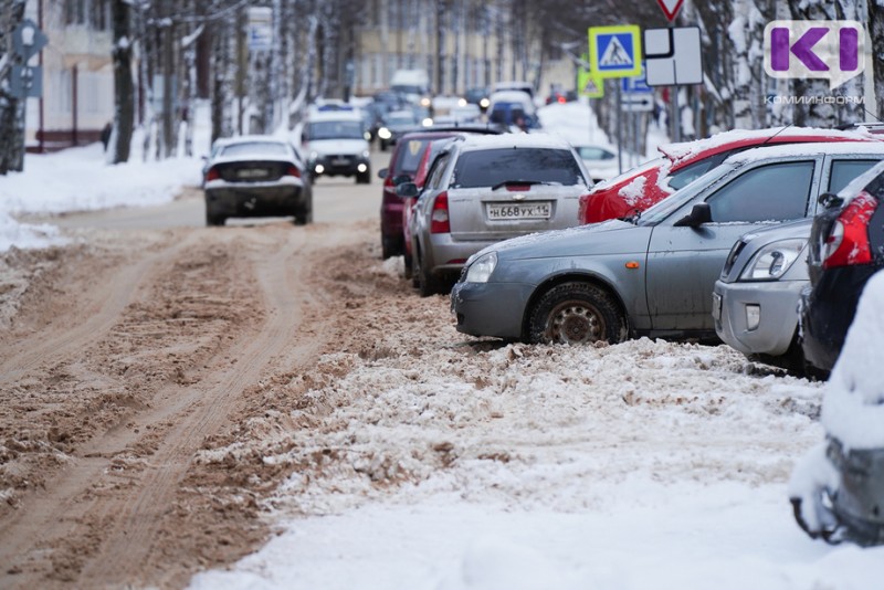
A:
{"label": "rusty-rimmed front wheel of the grey-blue sedan, standing in slush", "polygon": [[623,314],[611,295],[589,283],[564,283],[540,297],[528,325],[533,344],[622,343]]}

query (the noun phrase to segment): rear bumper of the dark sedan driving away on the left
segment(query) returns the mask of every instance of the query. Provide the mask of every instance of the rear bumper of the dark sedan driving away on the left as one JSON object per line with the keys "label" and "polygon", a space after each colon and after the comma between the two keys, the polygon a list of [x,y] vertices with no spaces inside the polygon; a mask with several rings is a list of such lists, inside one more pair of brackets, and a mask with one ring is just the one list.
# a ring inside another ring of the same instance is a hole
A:
{"label": "rear bumper of the dark sedan driving away on the left", "polygon": [[305,192],[295,185],[206,189],[207,209],[228,217],[291,215],[306,206]]}

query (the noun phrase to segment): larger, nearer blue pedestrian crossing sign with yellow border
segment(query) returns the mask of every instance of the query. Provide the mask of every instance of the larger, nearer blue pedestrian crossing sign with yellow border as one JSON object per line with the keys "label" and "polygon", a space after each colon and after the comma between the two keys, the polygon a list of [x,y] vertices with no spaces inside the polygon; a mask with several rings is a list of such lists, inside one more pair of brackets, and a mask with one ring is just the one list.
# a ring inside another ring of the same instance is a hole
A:
{"label": "larger, nearer blue pedestrian crossing sign with yellow border", "polygon": [[642,73],[642,42],[638,24],[591,27],[589,64],[600,77],[631,77]]}

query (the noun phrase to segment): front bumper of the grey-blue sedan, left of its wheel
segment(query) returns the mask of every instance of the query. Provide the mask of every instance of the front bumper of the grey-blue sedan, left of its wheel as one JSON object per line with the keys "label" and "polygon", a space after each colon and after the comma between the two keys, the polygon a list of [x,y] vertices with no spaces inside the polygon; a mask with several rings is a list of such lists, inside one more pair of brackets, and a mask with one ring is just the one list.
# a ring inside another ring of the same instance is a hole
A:
{"label": "front bumper of the grey-blue sedan, left of its wheel", "polygon": [[525,305],[534,289],[534,285],[519,283],[456,283],[451,289],[451,310],[457,331],[522,338]]}

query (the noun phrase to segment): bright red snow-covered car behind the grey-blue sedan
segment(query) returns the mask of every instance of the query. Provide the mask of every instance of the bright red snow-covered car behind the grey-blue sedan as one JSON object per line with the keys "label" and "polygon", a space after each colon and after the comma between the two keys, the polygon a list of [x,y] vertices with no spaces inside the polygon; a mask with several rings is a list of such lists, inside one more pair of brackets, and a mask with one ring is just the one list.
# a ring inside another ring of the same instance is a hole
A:
{"label": "bright red snow-covered car behind the grey-blue sedan", "polygon": [[699,178],[732,154],[765,144],[872,140],[881,140],[881,136],[866,131],[778,127],[725,131],[708,139],[667,144],[657,148],[662,157],[596,185],[588,194],[580,197],[578,217],[581,223],[596,223],[634,215]]}

